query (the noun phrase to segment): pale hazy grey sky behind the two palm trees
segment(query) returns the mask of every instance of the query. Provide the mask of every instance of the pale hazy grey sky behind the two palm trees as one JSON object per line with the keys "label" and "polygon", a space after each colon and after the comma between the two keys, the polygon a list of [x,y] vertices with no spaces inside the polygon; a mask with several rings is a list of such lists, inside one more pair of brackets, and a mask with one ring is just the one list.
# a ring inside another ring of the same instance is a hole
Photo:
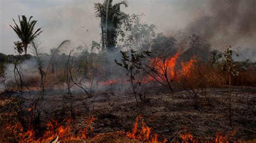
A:
{"label": "pale hazy grey sky behind the two palm trees", "polygon": [[[116,2],[120,1],[113,1]],[[177,30],[191,31],[194,29],[189,26],[191,23],[197,24],[200,17],[204,17],[207,13],[211,15],[212,12],[209,10],[211,0],[129,0],[127,2],[129,6],[127,8],[122,6],[122,11],[130,14],[144,13],[142,21],[157,25],[156,32],[163,32],[166,35]],[[46,47],[46,52],[66,39],[71,40],[72,47],[83,45],[83,42],[89,45],[92,40],[99,42],[99,19],[95,18],[94,3],[103,3],[103,0],[0,0],[0,52],[15,54],[14,42],[19,39],[10,25],[14,25],[12,18],[18,22],[18,15],[33,16],[33,20],[38,20],[37,28],[43,26],[44,31],[40,39]],[[221,37],[218,37],[218,33],[214,33],[212,39],[221,39]],[[239,40],[232,43],[233,46],[256,45],[255,36],[247,41],[240,38]],[[214,45],[215,41],[210,40],[210,42]]]}

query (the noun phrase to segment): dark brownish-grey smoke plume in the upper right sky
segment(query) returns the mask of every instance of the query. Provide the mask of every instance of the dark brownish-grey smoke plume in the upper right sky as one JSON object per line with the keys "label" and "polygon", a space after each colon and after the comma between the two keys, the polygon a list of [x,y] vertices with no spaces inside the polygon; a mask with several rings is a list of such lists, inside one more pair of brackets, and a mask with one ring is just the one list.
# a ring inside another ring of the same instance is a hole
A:
{"label": "dark brownish-grey smoke plume in the upper right sky", "polygon": [[[210,42],[214,48],[225,45],[254,46],[256,38],[256,1],[209,1],[206,12],[185,30],[196,33]],[[203,10],[202,10],[203,12]]]}

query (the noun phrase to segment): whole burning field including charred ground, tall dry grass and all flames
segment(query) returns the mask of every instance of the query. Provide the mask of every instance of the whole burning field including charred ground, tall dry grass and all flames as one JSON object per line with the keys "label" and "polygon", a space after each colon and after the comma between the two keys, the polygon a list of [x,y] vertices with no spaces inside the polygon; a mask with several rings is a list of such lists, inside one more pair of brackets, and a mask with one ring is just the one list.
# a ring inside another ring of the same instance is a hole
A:
{"label": "whole burning field including charred ground, tall dry grass and all flames", "polygon": [[[60,77],[65,74],[59,71],[48,75],[46,86],[50,90],[45,91],[42,99],[37,98],[39,89],[33,85],[30,85],[32,93],[2,94],[0,141],[230,142],[255,139],[256,125],[252,118],[256,109],[255,67],[241,69],[239,77],[232,78],[233,85],[251,87],[233,88],[231,128],[227,123],[227,90],[223,88],[228,83],[227,74],[218,64],[200,62],[196,56],[185,62],[179,59],[180,55],[177,52],[167,58],[150,58],[147,61],[150,65],[146,67],[150,70],[143,69],[145,75],[133,77],[137,95],[144,93],[139,104],[147,122],[138,116],[142,113],[138,112],[129,87],[131,80],[126,76],[96,79],[95,82],[93,78],[90,82],[93,96],[87,98],[84,94],[66,95],[63,90],[56,90],[64,89]],[[36,80],[32,81],[35,84]],[[92,91],[92,87],[107,90]],[[174,92],[166,88],[173,88]]]}

